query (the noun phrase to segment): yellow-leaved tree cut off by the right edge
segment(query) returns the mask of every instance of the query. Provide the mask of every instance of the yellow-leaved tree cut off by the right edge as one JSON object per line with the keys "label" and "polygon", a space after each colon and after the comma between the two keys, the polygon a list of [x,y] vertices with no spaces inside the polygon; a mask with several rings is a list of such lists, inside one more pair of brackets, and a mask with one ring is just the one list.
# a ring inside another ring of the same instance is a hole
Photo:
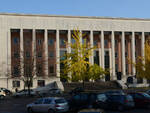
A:
{"label": "yellow-leaved tree cut off by the right edge", "polygon": [[130,59],[129,62],[135,66],[137,77],[150,80],[150,39],[145,43],[144,53],[145,56],[139,56],[137,62],[132,62]]}

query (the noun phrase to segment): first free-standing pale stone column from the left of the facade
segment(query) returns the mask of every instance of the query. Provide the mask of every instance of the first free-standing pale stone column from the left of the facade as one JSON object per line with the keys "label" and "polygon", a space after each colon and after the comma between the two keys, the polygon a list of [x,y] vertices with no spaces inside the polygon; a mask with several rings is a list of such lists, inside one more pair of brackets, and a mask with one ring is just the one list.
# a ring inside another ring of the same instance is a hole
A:
{"label": "first free-standing pale stone column from the left of the facade", "polygon": [[20,29],[20,74],[24,76],[23,29]]}

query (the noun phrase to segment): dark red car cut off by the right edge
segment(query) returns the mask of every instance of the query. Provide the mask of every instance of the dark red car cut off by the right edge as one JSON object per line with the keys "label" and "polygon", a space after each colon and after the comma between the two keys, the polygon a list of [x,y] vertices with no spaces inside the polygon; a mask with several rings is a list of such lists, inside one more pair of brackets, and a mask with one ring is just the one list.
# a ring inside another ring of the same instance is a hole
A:
{"label": "dark red car cut off by the right edge", "polygon": [[129,93],[135,102],[135,107],[150,108],[150,95],[147,93]]}

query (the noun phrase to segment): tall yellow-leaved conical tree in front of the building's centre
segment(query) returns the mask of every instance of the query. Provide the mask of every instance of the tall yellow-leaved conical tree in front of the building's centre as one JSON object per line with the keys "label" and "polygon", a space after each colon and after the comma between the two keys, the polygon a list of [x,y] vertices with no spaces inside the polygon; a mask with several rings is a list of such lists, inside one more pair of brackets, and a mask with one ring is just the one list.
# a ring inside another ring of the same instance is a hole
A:
{"label": "tall yellow-leaved conical tree in front of the building's centre", "polygon": [[[75,43],[66,43],[71,47],[71,53],[66,53],[61,62],[64,64],[64,69],[61,73],[61,78],[65,78],[70,81],[78,82],[100,79],[105,74],[104,69],[98,65],[91,65],[89,58],[92,55],[94,47],[90,47],[90,44],[86,43],[86,39],[83,43],[80,41],[85,34],[82,34],[79,30],[74,30],[72,37]],[[96,68],[96,69],[94,69]]]}

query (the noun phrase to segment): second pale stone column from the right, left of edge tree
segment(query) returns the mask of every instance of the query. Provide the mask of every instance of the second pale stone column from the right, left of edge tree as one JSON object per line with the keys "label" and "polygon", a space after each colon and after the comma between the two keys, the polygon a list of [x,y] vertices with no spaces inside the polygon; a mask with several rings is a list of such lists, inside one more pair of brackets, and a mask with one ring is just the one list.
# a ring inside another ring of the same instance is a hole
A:
{"label": "second pale stone column from the right, left of edge tree", "polygon": [[[132,32],[131,46],[132,46],[132,62],[135,63],[135,34],[134,32]],[[132,65],[132,75],[135,75],[134,65]]]}

